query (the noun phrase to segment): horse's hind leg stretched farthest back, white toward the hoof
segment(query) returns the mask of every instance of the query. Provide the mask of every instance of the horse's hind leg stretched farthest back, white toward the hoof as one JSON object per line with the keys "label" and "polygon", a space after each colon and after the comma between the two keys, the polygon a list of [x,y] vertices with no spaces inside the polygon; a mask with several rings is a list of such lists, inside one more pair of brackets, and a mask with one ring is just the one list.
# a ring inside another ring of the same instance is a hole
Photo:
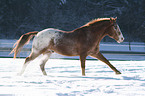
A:
{"label": "horse's hind leg stretched farthest back, white toward the hoof", "polygon": [[24,71],[25,71],[27,65],[30,63],[30,61],[34,60],[34,59],[35,59],[36,57],[38,57],[39,55],[40,55],[39,52],[34,52],[34,51],[32,51],[31,54],[30,54],[28,57],[26,57],[25,62],[24,62],[24,64],[23,64],[23,67],[22,67],[22,69],[21,69],[21,72],[18,73],[18,75],[22,75],[22,74],[24,73]]}

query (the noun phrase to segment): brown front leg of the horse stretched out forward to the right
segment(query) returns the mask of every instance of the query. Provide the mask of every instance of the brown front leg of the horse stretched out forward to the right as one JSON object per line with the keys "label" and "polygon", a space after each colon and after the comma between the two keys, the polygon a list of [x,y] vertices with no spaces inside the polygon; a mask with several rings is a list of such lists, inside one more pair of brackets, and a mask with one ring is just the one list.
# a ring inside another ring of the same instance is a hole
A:
{"label": "brown front leg of the horse stretched out forward to the right", "polygon": [[121,74],[121,72],[119,72],[100,52],[98,54],[93,53],[90,56],[98,58],[99,60],[107,64],[116,74]]}

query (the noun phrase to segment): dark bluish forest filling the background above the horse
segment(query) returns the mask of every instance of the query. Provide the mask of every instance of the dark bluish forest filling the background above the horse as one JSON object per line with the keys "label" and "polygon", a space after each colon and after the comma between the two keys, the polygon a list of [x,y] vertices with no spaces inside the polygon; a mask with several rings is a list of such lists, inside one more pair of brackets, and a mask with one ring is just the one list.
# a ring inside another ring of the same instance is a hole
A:
{"label": "dark bluish forest filling the background above the horse", "polygon": [[145,42],[144,5],[145,0],[0,0],[0,39],[45,28],[70,31],[95,18],[118,17],[126,42]]}

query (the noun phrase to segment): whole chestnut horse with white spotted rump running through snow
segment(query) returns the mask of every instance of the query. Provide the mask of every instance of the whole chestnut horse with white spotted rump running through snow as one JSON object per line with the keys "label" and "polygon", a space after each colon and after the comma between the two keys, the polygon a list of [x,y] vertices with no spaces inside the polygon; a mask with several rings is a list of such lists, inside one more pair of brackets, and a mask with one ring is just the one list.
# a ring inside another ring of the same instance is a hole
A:
{"label": "whole chestnut horse with white spotted rump running through snow", "polygon": [[14,58],[22,47],[33,37],[31,54],[26,57],[24,65],[19,75],[22,75],[30,61],[40,54],[43,58],[40,61],[40,68],[43,75],[47,75],[45,64],[53,52],[65,56],[79,56],[81,61],[82,75],[85,76],[85,61],[87,56],[91,56],[106,63],[116,74],[121,74],[99,51],[100,41],[108,35],[118,43],[123,42],[124,37],[116,23],[116,18],[98,18],[73,30],[62,31],[48,28],[40,32],[34,31],[23,34],[15,43]]}

